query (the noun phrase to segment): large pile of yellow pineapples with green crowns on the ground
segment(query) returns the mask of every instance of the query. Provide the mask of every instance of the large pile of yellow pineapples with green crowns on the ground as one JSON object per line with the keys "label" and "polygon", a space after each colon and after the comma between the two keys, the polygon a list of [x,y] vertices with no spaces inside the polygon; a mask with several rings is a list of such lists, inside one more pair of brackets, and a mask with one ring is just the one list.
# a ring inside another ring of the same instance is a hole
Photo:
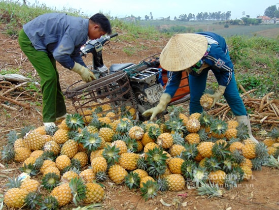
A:
{"label": "large pile of yellow pineapples with green crowns on the ground", "polygon": [[[138,189],[145,200],[158,191],[186,188],[221,196],[279,154],[278,129],[256,144],[247,126],[206,112],[187,116],[175,107],[166,121],[140,122],[129,114],[112,120],[114,113],[88,111],[90,123],[75,113],[58,126],[29,126],[7,135],[2,160],[21,163],[23,174],[6,184],[8,207],[100,203],[106,181]],[[40,186],[48,194],[38,193]]]}

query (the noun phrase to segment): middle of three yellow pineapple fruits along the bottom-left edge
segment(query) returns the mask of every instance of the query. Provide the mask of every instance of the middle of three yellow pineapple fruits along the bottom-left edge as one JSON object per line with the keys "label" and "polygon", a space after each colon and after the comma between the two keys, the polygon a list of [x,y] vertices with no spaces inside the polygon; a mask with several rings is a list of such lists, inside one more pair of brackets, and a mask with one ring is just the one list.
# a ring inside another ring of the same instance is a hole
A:
{"label": "middle of three yellow pineapple fruits along the bottom-left edge", "polygon": [[58,201],[59,206],[63,206],[72,201],[73,195],[68,183],[56,186],[50,193]]}

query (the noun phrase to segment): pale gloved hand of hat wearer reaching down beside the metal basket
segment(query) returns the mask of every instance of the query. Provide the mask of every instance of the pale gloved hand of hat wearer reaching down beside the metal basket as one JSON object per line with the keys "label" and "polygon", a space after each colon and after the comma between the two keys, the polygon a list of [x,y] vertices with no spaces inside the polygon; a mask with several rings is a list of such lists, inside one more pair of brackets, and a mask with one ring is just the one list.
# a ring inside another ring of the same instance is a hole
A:
{"label": "pale gloved hand of hat wearer reaching down beside the metal basket", "polygon": [[159,104],[151,109],[146,110],[143,115],[145,117],[151,115],[150,120],[152,121],[157,114],[163,112],[166,109],[166,106],[170,102],[170,100],[171,97],[169,94],[162,94]]}

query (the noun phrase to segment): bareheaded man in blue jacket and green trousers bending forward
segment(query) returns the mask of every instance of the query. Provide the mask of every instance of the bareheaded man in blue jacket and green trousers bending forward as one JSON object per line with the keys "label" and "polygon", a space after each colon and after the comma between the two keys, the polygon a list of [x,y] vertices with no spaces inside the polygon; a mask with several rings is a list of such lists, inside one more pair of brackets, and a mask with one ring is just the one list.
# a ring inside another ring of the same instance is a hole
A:
{"label": "bareheaded man in blue jacket and green trousers bending forward", "polygon": [[78,73],[85,82],[96,79],[86,68],[80,48],[88,38],[98,39],[111,33],[110,21],[100,13],[89,19],[62,13],[43,14],[23,25],[18,42],[41,78],[44,126],[55,125],[55,121],[67,115],[56,61]]}

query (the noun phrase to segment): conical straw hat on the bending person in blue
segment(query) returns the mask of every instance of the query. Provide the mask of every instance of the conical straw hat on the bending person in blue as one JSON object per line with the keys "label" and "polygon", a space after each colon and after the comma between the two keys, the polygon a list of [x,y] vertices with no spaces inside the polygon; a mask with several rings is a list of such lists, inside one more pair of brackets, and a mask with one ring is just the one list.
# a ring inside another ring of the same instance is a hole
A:
{"label": "conical straw hat on the bending person in blue", "polygon": [[206,49],[207,40],[202,35],[173,35],[160,54],[160,65],[173,72],[188,69],[203,57]]}

